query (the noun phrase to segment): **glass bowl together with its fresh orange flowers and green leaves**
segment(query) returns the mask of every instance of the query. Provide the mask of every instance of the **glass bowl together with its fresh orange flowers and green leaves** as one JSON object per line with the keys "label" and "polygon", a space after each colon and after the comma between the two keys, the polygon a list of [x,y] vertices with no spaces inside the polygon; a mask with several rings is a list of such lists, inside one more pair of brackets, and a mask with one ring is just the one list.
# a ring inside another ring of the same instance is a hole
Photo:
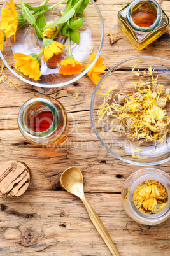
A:
{"label": "glass bowl together with its fresh orange flowers and green leaves", "polygon": [[[36,7],[23,0],[19,6],[6,1],[1,8],[0,55],[24,82],[59,87],[78,80],[96,63],[103,20],[93,0],[48,1]],[[92,53],[95,58],[89,62]]]}

